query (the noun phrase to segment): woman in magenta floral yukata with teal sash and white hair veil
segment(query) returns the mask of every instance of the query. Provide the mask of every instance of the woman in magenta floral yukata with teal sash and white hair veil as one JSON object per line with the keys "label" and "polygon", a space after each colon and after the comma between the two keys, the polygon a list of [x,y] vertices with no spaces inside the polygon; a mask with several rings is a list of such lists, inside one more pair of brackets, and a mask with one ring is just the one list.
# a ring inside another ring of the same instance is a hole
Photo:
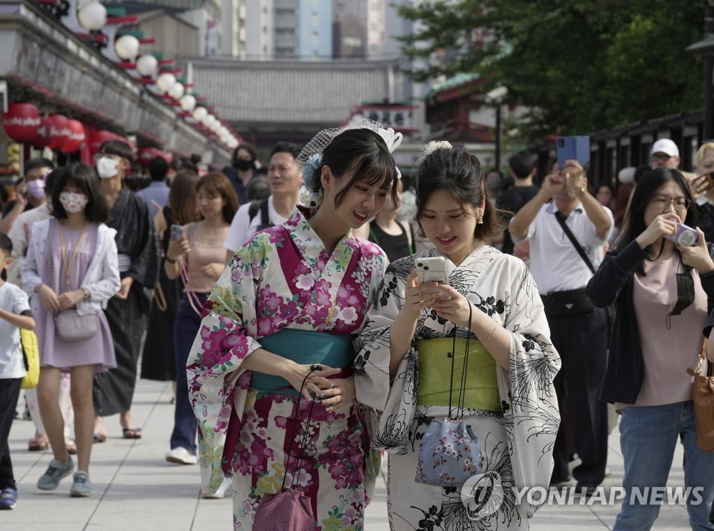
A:
{"label": "woman in magenta floral yukata with teal sash and white hair veil", "polygon": [[[261,497],[286,475],[311,499],[316,530],[363,529],[379,460],[369,450],[369,412],[356,400],[352,341],[388,261],[352,230],[396,193],[391,151],[400,142],[371,121],[321,131],[298,157],[311,207],[238,249],[203,307],[188,393],[203,492],[233,474],[235,530],[253,528]],[[311,364],[322,369],[301,397]],[[293,444],[293,427],[294,440],[308,430],[306,452]]]}

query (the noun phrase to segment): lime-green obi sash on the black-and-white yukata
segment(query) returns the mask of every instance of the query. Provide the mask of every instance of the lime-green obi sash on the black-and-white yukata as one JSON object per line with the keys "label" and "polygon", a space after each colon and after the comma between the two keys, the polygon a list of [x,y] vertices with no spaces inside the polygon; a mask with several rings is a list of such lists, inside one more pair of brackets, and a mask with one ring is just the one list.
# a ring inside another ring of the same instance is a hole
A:
{"label": "lime-green obi sash on the black-and-white yukata", "polygon": [[[419,350],[419,390],[417,405],[449,405],[449,383],[451,382],[452,337],[418,339]],[[453,360],[453,392],[451,405],[461,401],[461,375],[466,339],[456,339],[456,359]],[[501,412],[501,397],[498,395],[496,361],[488,354],[480,341],[469,342],[468,365],[466,367],[466,394],[464,407],[474,410]]]}

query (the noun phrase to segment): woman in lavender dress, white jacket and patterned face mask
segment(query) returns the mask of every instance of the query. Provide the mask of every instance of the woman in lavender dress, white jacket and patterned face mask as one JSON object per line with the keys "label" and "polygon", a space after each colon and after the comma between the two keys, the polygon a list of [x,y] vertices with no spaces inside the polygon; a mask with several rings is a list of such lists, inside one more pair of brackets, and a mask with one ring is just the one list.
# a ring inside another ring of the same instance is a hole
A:
{"label": "woman in lavender dress, white jacket and patterned face mask", "polygon": [[[55,490],[74,470],[64,442],[64,419],[59,407],[60,378],[71,374],[77,471],[70,495],[91,495],[89,460],[94,427],[92,382],[95,373],[116,367],[112,332],[102,305],[120,287],[114,230],[106,227],[109,207],[94,170],[86,164],[61,169],[52,193],[52,215],[31,227],[22,284],[31,295],[37,319],[40,414],[53,459],[37,487]],[[91,319],[96,331],[84,339],[61,334],[55,315],[64,310]]]}

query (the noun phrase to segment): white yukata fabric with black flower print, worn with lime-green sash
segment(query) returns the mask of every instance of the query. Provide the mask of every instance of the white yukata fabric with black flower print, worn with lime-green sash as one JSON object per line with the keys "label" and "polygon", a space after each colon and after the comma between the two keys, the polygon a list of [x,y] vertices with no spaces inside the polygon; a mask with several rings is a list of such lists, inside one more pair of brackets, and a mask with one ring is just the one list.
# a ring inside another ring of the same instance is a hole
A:
{"label": "white yukata fabric with black flower print, worn with lime-green sash", "polygon": [[[358,394],[382,412],[373,436],[374,448],[390,452],[388,510],[392,530],[526,529],[537,507],[516,505],[516,487],[548,487],[553,445],[560,424],[553,379],[560,357],[550,342],[550,329],[533,277],[521,260],[488,246],[476,248],[456,267],[446,259],[449,284],[511,334],[511,370],[496,367],[503,413],[466,409],[464,418],[478,436],[487,477],[498,477],[503,501],[489,517],[471,519],[456,487],[431,487],[414,481],[423,432],[448,407],[416,405],[419,353],[416,339],[466,337],[426,308],[421,312],[411,347],[389,379],[391,324],[404,301],[406,277],[417,257],[441,255],[436,249],[390,264],[378,300],[356,347]],[[478,339],[478,338],[477,338]],[[447,362],[446,355],[445,362]],[[448,389],[448,382],[444,382]],[[493,491],[491,491],[493,492]],[[468,496],[467,496],[468,497]]]}

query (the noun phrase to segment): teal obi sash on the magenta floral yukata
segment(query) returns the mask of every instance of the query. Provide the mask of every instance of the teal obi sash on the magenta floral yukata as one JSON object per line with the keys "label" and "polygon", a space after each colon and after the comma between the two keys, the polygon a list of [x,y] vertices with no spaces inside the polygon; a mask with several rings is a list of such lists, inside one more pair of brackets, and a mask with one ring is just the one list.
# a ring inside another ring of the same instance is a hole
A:
{"label": "teal obi sash on the magenta floral yukata", "polygon": [[[328,367],[342,368],[351,367],[353,362],[353,339],[352,334],[328,334],[283,328],[275,334],[258,339],[258,342],[268,352],[299,364],[319,363]],[[258,391],[276,392],[293,397],[300,394],[285,378],[257,371],[251,371],[251,387]]]}

